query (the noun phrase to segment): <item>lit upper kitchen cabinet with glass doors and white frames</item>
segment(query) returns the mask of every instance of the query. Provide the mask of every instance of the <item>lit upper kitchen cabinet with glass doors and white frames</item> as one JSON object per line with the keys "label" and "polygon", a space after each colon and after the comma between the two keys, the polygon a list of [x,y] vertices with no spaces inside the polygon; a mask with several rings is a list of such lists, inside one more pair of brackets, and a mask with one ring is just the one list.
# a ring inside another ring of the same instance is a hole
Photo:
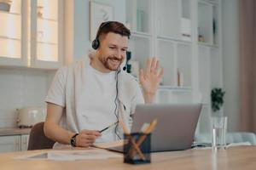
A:
{"label": "lit upper kitchen cabinet with glass doors and white frames", "polygon": [[0,10],[0,65],[57,69],[63,58],[61,0],[10,0]]}

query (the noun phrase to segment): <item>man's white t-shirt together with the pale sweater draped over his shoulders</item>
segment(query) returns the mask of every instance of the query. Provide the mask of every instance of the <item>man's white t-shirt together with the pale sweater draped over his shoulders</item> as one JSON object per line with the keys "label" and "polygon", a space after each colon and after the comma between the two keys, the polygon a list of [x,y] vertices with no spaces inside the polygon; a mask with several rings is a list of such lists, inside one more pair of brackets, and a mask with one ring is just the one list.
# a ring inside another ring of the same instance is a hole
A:
{"label": "man's white t-shirt together with the pale sweater draped over his shoulders", "polygon": [[[83,129],[102,130],[117,121],[115,113],[122,116],[127,127],[131,127],[131,115],[137,104],[144,103],[143,94],[136,79],[125,71],[120,71],[115,112],[116,74],[116,71],[96,71],[90,66],[88,59],[59,69],[45,101],[65,108],[61,127],[74,133]],[[116,133],[123,137],[120,127]],[[109,128],[96,143],[117,140],[116,133],[114,127]]]}

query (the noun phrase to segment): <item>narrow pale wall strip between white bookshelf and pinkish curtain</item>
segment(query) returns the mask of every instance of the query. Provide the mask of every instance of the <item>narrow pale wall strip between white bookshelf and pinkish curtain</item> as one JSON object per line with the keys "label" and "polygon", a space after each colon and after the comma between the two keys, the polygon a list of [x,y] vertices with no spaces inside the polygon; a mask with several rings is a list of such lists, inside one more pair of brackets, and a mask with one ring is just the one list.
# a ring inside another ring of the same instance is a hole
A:
{"label": "narrow pale wall strip between white bookshelf and pinkish curtain", "polygon": [[228,128],[239,128],[239,10],[238,0],[223,0],[224,114]]}

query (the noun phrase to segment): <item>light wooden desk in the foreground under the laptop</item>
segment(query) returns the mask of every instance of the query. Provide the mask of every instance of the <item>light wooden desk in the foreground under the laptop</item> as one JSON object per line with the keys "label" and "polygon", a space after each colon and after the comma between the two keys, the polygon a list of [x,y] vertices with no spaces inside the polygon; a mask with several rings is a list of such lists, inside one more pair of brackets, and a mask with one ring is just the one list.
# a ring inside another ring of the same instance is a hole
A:
{"label": "light wooden desk in the foreground under the laptop", "polygon": [[212,150],[184,150],[152,154],[152,163],[129,165],[122,158],[108,160],[84,161],[27,161],[16,160],[14,157],[42,150],[23,151],[0,154],[0,169],[7,170],[79,170],[79,169],[256,169],[256,146],[237,146],[212,154]]}

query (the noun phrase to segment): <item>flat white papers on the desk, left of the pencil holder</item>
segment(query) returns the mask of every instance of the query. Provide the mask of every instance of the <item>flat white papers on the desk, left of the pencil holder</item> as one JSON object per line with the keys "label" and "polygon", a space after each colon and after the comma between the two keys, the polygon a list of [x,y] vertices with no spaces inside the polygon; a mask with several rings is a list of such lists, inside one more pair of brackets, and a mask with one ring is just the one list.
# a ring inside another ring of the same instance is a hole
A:
{"label": "flat white papers on the desk, left of the pencil holder", "polygon": [[108,158],[119,158],[122,155],[108,150],[51,150],[19,156],[16,159],[21,160],[55,160],[55,161],[76,161],[76,160],[98,160]]}

